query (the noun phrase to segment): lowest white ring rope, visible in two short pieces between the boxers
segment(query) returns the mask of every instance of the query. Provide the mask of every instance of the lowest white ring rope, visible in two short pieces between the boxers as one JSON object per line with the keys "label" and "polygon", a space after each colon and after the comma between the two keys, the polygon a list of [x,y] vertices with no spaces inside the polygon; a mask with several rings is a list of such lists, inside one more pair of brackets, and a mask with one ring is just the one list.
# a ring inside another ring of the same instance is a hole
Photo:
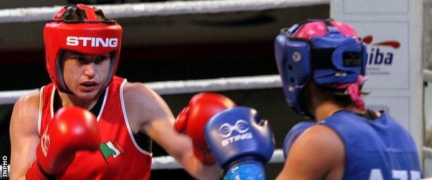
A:
{"label": "lowest white ring rope, visible in two short pieces between the boxers", "polygon": [[[282,150],[275,150],[269,163],[284,163],[285,159]],[[173,170],[181,169],[181,165],[172,156],[153,157],[152,170]]]}

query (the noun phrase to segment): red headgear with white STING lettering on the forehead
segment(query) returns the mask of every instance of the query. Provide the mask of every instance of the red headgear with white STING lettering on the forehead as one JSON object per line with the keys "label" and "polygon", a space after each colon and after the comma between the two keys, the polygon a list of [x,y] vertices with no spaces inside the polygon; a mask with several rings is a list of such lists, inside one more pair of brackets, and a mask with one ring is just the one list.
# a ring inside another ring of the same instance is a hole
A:
{"label": "red headgear with white STING lettering on the forehead", "polygon": [[101,10],[78,4],[77,9],[85,13],[83,21],[65,20],[66,9],[62,8],[44,27],[46,70],[55,86],[71,93],[64,83],[62,52],[73,51],[85,55],[111,54],[108,78],[102,85],[104,90],[116,73],[123,30],[115,20],[99,20],[96,13]]}

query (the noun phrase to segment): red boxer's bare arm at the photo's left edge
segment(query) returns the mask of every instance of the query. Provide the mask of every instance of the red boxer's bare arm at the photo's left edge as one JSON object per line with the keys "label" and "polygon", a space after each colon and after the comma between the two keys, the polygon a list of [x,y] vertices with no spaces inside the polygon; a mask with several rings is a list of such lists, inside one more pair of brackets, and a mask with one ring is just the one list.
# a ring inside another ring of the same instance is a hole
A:
{"label": "red boxer's bare arm at the photo's left edge", "polygon": [[26,171],[36,159],[38,112],[39,93],[31,93],[15,102],[10,119],[10,179],[26,179]]}

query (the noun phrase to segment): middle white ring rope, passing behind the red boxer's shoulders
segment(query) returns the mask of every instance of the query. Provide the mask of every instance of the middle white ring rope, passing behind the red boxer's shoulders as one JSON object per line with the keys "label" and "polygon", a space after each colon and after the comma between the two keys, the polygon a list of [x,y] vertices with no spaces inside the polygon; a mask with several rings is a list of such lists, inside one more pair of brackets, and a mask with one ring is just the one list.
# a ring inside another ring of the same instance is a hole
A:
{"label": "middle white ring rope, passing behind the red boxer's shoulders", "polygon": [[[148,82],[148,87],[159,93],[180,94],[198,93],[202,91],[229,91],[240,89],[269,89],[282,87],[279,75],[258,75],[240,78],[217,78],[207,80],[184,80]],[[13,104],[19,97],[33,93],[39,89],[21,91],[0,91],[0,105]]]}

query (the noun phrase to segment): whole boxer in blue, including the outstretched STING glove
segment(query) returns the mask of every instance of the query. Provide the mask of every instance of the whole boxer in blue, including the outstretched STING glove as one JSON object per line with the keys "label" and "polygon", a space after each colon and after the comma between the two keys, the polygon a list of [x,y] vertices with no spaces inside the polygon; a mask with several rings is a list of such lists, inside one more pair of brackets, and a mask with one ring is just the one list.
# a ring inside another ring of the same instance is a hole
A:
{"label": "whole boxer in blue, including the outstretched STING glove", "polygon": [[[348,24],[309,19],[276,37],[276,62],[289,107],[316,122],[287,134],[277,179],[420,179],[410,134],[384,111],[365,109],[366,46]],[[224,179],[264,179],[273,152],[267,121],[245,107],[210,118],[206,141]]]}

